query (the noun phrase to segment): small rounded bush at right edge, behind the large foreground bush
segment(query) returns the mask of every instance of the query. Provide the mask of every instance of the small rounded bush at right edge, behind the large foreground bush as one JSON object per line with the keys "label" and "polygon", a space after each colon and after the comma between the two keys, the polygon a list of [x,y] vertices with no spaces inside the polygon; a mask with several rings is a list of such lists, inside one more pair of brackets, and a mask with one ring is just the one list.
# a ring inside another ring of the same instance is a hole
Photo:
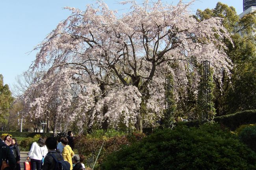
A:
{"label": "small rounded bush at right edge, behind the large foreground bush", "polygon": [[256,152],[256,126],[246,126],[239,133],[239,139]]}

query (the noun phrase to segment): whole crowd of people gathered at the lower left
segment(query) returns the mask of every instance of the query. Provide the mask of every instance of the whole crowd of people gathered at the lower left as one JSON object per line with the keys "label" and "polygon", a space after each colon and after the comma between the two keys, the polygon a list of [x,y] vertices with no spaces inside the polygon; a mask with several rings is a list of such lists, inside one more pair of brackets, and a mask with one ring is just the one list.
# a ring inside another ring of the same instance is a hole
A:
{"label": "whole crowd of people gathered at the lower left", "polygon": [[[20,170],[20,149],[17,140],[6,135],[4,141],[0,142],[0,159],[3,160],[0,161],[0,167],[5,168],[4,170]],[[58,142],[55,137],[40,137],[37,142],[32,143],[26,161],[30,160],[31,170],[55,170],[60,165],[66,170],[85,170],[85,157],[74,154],[73,150],[72,131],[68,132],[67,137],[59,137]]]}

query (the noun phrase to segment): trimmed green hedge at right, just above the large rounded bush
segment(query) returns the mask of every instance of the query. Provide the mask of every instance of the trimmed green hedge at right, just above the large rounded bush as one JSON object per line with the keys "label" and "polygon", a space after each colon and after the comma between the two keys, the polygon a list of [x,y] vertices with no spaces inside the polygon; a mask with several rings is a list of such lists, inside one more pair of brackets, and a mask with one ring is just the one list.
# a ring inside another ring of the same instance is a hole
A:
{"label": "trimmed green hedge at right, just above the large rounded bush", "polygon": [[230,128],[230,130],[236,130],[236,128],[243,124],[256,123],[256,110],[245,110],[230,115],[223,115],[215,117],[213,120]]}

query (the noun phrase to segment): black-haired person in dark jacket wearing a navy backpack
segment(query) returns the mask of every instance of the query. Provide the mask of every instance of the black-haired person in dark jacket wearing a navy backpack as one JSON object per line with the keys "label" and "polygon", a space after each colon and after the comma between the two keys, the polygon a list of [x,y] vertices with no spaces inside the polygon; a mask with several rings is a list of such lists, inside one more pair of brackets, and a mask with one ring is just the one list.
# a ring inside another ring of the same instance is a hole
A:
{"label": "black-haired person in dark jacket wearing a navy backpack", "polygon": [[48,154],[45,156],[43,170],[70,170],[69,162],[64,161],[63,157],[55,150],[57,140],[54,137],[48,137],[45,144]]}

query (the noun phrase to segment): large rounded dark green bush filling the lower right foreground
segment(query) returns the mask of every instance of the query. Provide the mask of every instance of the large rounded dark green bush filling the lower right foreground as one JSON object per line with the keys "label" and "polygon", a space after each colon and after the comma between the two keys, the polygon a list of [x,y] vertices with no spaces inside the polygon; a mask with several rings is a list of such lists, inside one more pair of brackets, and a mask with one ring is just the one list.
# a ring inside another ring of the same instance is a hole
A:
{"label": "large rounded dark green bush filling the lower right foreground", "polygon": [[178,126],[109,155],[102,170],[252,170],[256,153],[217,124]]}

